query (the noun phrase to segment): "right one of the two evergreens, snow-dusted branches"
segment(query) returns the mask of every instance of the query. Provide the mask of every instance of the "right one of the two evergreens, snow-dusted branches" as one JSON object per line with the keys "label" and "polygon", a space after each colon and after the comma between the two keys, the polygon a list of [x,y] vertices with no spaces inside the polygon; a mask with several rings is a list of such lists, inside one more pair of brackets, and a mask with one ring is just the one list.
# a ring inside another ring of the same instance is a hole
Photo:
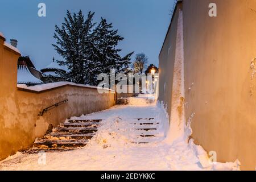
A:
{"label": "right one of the two evergreens, snow-dusted branches", "polygon": [[93,63],[90,67],[90,83],[97,85],[97,75],[106,73],[110,75],[110,69],[115,69],[117,73],[123,73],[131,63],[131,55],[121,57],[118,49],[118,43],[124,38],[118,35],[118,30],[113,30],[112,23],[108,24],[106,19],[101,18],[101,22],[93,31],[94,55]]}

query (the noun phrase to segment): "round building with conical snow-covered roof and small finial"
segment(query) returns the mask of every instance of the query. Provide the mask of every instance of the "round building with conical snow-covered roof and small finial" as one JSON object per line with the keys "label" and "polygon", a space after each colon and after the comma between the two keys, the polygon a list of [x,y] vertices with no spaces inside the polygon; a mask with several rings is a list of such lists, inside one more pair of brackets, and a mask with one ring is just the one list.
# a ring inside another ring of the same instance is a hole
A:
{"label": "round building with conical snow-covered roof and small finial", "polygon": [[64,79],[59,76],[58,72],[67,73],[67,71],[68,69],[59,65],[53,57],[52,63],[49,64],[46,68],[41,69],[41,72],[43,73],[42,80],[46,84],[51,82],[64,81]]}

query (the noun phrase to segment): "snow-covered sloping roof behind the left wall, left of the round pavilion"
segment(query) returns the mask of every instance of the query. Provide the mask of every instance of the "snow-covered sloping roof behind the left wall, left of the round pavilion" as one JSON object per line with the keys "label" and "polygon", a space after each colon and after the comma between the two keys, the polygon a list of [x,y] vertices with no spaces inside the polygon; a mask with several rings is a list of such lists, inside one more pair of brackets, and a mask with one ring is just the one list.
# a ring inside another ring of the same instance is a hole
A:
{"label": "snow-covered sloping roof behind the left wall, left of the round pavilion", "polygon": [[18,66],[18,84],[43,84],[42,80],[39,80],[28,70],[27,66]]}

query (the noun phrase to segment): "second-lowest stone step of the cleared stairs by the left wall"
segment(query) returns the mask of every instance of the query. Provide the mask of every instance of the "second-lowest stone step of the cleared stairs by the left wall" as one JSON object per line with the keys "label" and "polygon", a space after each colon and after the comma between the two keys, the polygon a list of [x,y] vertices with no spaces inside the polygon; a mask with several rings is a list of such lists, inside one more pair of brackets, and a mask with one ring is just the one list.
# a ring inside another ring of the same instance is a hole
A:
{"label": "second-lowest stone step of the cleared stairs by the left wall", "polygon": [[36,148],[75,148],[75,147],[84,147],[86,146],[88,140],[48,140],[42,139],[34,143]]}

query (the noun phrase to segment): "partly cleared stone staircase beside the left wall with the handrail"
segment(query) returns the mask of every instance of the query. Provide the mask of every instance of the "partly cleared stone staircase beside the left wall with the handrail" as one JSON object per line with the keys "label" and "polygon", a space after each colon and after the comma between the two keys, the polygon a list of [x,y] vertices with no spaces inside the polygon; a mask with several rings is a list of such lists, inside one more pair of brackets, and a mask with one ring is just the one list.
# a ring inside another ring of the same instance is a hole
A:
{"label": "partly cleared stone staircase beside the left wall with the handrail", "polygon": [[102,119],[69,120],[61,123],[52,133],[36,140],[28,153],[38,151],[65,151],[84,147],[100,126]]}

